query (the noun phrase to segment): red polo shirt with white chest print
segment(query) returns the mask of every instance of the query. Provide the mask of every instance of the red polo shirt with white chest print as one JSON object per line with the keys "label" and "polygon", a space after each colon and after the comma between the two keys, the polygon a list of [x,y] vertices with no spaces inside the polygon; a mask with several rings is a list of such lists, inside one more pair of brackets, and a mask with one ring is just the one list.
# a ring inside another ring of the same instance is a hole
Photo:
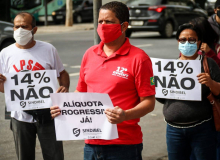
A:
{"label": "red polo shirt with white chest print", "polygon": [[[82,60],[77,86],[79,92],[108,93],[114,106],[123,110],[134,108],[140,97],[155,95],[152,63],[141,49],[132,46],[129,39],[114,54],[107,57],[104,43],[89,48]],[[140,118],[117,124],[119,138],[114,140],[85,140],[87,144],[139,144],[142,132]]]}

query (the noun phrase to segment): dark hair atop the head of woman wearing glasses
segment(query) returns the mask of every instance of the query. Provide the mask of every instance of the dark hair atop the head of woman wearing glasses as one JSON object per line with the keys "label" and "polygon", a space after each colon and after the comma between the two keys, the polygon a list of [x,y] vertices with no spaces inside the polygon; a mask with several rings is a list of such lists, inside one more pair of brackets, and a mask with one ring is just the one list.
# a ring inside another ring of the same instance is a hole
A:
{"label": "dark hair atop the head of woman wearing glasses", "polygon": [[176,40],[179,39],[180,33],[181,33],[183,30],[185,30],[185,29],[191,29],[191,30],[195,31],[195,32],[196,32],[196,35],[197,35],[197,37],[198,37],[198,40],[199,40],[199,41],[202,41],[202,32],[201,32],[198,28],[194,27],[194,25],[192,25],[192,24],[190,24],[190,23],[185,23],[185,24],[179,26],[179,28],[178,28],[178,30],[177,30],[177,32],[176,32]]}

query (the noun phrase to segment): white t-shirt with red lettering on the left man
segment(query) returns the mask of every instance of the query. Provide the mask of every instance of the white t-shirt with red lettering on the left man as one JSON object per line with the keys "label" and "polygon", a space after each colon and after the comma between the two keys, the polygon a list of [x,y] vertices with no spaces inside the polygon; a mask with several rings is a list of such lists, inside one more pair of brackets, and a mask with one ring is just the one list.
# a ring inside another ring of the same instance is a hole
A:
{"label": "white t-shirt with red lettering on the left man", "polygon": [[[36,41],[30,49],[20,49],[12,44],[1,51],[0,73],[16,73],[23,70],[56,70],[59,77],[64,67],[56,48],[46,42]],[[34,122],[33,116],[23,111],[12,111],[11,117],[23,122]]]}

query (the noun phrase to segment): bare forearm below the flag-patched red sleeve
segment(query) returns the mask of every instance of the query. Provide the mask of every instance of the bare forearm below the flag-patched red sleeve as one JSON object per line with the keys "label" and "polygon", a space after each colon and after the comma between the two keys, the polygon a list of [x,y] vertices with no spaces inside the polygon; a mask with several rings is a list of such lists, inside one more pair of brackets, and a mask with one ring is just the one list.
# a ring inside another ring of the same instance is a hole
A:
{"label": "bare forearm below the flag-patched red sleeve", "polygon": [[145,97],[136,107],[125,111],[125,120],[136,119],[152,112],[155,106],[155,96]]}

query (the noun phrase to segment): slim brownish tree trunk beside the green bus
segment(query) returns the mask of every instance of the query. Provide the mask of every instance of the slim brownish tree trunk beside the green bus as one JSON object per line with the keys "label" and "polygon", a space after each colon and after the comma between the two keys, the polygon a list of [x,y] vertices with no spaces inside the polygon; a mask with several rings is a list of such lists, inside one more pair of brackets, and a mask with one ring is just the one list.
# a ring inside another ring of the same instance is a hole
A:
{"label": "slim brownish tree trunk beside the green bus", "polygon": [[73,25],[73,1],[66,0],[66,27]]}

